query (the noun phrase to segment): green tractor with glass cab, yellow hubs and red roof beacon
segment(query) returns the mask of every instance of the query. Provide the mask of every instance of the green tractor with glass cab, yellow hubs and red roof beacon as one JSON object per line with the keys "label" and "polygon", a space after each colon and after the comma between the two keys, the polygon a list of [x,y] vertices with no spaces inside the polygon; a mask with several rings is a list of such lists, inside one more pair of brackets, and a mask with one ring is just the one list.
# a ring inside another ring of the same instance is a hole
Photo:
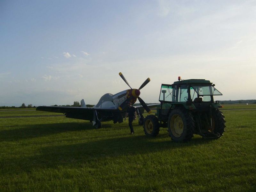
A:
{"label": "green tractor with glass cab, yellow hubs and red roof beacon", "polygon": [[144,119],[144,132],[156,136],[160,127],[168,127],[175,142],[191,140],[194,134],[205,139],[220,138],[225,132],[223,106],[213,100],[213,95],[222,95],[215,84],[205,79],[180,80],[162,84],[155,115]]}

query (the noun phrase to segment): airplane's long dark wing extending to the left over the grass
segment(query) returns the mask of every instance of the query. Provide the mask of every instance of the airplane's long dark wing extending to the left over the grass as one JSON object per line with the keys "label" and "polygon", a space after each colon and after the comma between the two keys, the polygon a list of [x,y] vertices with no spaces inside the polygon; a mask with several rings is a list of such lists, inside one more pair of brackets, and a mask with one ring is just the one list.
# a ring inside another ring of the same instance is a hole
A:
{"label": "airplane's long dark wing extending to the left over the grass", "polygon": [[38,106],[37,111],[48,111],[66,114],[68,118],[83,119],[93,121],[95,111],[98,114],[112,115],[113,112],[119,112],[116,108],[90,108],[90,107],[55,107],[55,106]]}

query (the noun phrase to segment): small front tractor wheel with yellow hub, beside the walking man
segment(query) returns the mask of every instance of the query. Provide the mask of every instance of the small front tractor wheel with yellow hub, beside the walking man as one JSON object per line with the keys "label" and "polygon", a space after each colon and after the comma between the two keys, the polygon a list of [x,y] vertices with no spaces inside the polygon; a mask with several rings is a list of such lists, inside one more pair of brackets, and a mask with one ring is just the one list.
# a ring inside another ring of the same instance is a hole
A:
{"label": "small front tractor wheel with yellow hub, beside the walking man", "polygon": [[148,136],[156,136],[159,133],[159,122],[156,116],[148,115],[144,119],[144,132]]}

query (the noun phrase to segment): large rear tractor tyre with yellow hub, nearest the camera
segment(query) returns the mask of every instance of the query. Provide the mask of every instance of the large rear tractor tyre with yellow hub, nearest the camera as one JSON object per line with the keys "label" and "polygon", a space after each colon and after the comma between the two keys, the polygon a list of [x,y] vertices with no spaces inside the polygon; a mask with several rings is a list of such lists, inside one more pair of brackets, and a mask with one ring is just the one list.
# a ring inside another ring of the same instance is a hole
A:
{"label": "large rear tractor tyre with yellow hub, nearest the camera", "polygon": [[184,142],[191,140],[195,130],[195,121],[190,111],[175,108],[168,118],[168,131],[173,141]]}

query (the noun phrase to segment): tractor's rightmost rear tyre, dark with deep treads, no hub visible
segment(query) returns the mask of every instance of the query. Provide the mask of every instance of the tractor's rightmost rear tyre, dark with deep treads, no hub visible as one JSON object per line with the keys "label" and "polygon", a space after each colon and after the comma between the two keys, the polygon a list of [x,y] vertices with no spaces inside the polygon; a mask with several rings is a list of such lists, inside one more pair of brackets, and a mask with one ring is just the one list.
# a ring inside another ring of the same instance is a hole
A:
{"label": "tractor's rightmost rear tyre, dark with deep treads, no hub visible", "polygon": [[221,137],[223,135],[223,132],[225,132],[225,127],[226,127],[225,123],[226,123],[225,116],[220,111],[220,109],[218,108],[213,109],[212,110],[212,131],[214,133],[219,133]]}

